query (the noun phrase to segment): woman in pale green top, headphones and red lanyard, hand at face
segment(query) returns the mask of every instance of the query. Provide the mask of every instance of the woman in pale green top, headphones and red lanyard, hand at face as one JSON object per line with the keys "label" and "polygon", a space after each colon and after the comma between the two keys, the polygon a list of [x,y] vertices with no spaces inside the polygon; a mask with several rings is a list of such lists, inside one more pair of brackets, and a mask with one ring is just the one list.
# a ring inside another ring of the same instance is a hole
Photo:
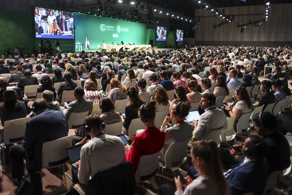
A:
{"label": "woman in pale green top, headphones and red lanyard, hand at face", "polygon": [[[160,130],[165,132],[164,147],[159,154],[159,161],[165,162],[165,154],[172,143],[188,141],[192,138],[193,128],[190,122],[185,121],[185,117],[189,115],[191,106],[187,102],[177,101],[170,110],[170,116],[166,116]],[[175,121],[172,127],[166,128],[168,122]]]}

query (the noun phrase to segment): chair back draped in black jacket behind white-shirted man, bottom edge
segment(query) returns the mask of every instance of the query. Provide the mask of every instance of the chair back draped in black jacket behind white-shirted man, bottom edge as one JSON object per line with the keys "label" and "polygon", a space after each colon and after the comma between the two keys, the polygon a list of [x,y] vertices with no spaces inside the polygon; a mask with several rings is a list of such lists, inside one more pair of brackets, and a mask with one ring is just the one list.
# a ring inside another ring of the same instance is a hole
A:
{"label": "chair back draped in black jacket behind white-shirted man, bottom edge", "polygon": [[97,172],[85,184],[85,194],[135,195],[135,191],[135,173],[129,161],[105,171]]}

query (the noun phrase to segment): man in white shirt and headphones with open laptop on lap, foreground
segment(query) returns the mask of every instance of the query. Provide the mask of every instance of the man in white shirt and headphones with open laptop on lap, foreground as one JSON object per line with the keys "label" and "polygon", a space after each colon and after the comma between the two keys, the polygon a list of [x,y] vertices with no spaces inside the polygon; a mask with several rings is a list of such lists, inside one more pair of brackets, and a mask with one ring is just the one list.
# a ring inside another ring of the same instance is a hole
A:
{"label": "man in white shirt and headphones with open laptop on lap, foreground", "polygon": [[85,189],[97,172],[108,170],[125,161],[125,148],[121,138],[104,133],[105,124],[97,114],[89,115],[84,121],[84,129],[91,141],[82,146],[80,160],[76,168],[72,166],[72,182]]}

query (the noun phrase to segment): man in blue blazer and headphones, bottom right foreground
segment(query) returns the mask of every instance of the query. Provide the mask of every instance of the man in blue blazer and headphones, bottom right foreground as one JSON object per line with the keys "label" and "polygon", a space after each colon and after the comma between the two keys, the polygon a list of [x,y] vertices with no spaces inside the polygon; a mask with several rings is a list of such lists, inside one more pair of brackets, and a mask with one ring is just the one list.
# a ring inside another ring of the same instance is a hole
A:
{"label": "man in blue blazer and headphones, bottom right foreground", "polygon": [[265,159],[268,144],[260,136],[250,135],[242,146],[246,158],[240,165],[225,173],[231,195],[248,192],[263,194],[269,174],[269,164]]}

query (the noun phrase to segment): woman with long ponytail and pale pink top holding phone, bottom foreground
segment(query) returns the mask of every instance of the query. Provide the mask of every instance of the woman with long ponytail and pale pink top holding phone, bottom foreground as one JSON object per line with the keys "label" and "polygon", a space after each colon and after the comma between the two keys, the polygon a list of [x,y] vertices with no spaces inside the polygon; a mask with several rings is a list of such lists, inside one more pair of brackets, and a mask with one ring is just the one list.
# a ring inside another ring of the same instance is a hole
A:
{"label": "woman with long ponytail and pale pink top holding phone, bottom foreground", "polygon": [[[160,194],[169,195],[175,192],[175,194],[185,195],[229,195],[229,184],[222,174],[217,153],[218,149],[215,141],[196,141],[191,149],[192,163],[194,165],[192,168],[196,168],[197,172],[200,172],[200,176],[193,180],[191,175],[188,175],[185,177],[187,183],[184,185],[181,184],[179,177],[175,177],[176,188],[169,184],[164,184],[160,187]],[[183,187],[185,187],[184,192]]]}

